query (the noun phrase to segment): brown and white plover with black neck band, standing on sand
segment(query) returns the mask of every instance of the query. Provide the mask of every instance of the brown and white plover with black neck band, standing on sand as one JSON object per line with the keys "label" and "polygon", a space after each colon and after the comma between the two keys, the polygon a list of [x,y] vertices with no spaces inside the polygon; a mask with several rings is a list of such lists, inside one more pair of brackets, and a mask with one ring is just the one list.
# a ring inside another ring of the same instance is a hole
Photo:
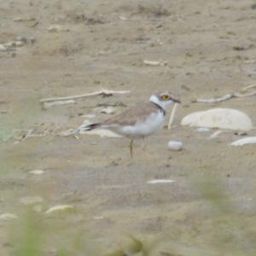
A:
{"label": "brown and white plover with black neck band, standing on sand", "polygon": [[127,108],[112,118],[99,123],[81,125],[75,133],[95,129],[108,129],[128,137],[130,141],[130,154],[133,156],[133,141],[143,139],[159,131],[165,121],[166,110],[174,103],[181,103],[179,99],[168,91],[150,96],[148,102]]}

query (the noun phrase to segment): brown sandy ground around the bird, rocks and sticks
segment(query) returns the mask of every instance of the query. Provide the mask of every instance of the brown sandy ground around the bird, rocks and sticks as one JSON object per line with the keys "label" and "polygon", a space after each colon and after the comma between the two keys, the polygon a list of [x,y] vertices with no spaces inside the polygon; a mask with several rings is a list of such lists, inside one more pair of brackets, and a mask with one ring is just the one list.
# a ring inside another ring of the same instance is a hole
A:
{"label": "brown sandy ground around the bird, rocks and sticks", "polygon": [[[154,91],[171,90],[183,104],[172,130],[149,137],[146,152],[135,143],[132,160],[125,138],[48,135],[1,143],[0,213],[19,217],[26,210],[20,198],[28,195],[44,199],[43,212],[73,205],[77,211],[61,217],[42,213],[46,226],[56,225],[45,255],[56,255],[57,247],[72,243],[74,234],[85,234],[104,253],[122,247],[123,238],[132,234],[154,245],[152,255],[255,255],[255,146],[230,147],[241,137],[232,131],[209,140],[213,131],[199,133],[179,125],[185,114],[214,107],[240,109],[256,123],[255,96],[191,103],[196,97],[223,96],[255,83],[252,4],[2,1],[0,43],[27,39],[24,45],[0,50],[3,140],[15,129],[75,128],[86,114],[105,119],[109,115],[98,113],[99,104],[129,107],[147,101]],[[49,32],[56,24],[59,30]],[[150,67],[143,60],[166,64]],[[39,103],[45,97],[102,88],[131,94],[95,96],[51,108]],[[256,135],[255,130],[247,134]],[[184,149],[168,151],[171,139],[183,141]],[[45,172],[28,173],[34,169]],[[152,178],[176,182],[149,185]],[[228,213],[219,209],[219,201],[211,201],[206,192],[211,184],[227,195],[233,206]],[[9,242],[9,223],[0,223],[1,255],[9,255],[15,246]]]}

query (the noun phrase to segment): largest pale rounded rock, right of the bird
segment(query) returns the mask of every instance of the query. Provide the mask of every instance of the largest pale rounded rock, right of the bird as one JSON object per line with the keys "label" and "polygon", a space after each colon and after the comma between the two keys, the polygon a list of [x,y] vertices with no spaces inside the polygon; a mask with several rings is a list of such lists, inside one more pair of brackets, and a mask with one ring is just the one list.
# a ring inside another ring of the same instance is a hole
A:
{"label": "largest pale rounded rock, right of the bird", "polygon": [[189,113],[182,119],[181,124],[241,131],[249,131],[253,128],[252,120],[246,113],[231,108],[212,108]]}

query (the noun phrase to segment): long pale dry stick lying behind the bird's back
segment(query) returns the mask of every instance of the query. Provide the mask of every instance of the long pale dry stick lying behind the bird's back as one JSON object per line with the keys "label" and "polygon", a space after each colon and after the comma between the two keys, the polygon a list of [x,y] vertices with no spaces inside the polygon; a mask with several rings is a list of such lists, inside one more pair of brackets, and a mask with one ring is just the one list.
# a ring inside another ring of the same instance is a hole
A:
{"label": "long pale dry stick lying behind the bird's back", "polygon": [[75,95],[75,96],[66,96],[66,97],[56,97],[56,98],[48,98],[48,99],[41,99],[39,102],[58,102],[58,101],[68,101],[68,100],[73,100],[73,99],[79,99],[79,98],[84,98],[84,97],[89,97],[89,96],[111,96],[113,94],[125,94],[125,93],[130,93],[130,90],[98,90],[95,92],[90,92],[86,94],[81,94],[81,95]]}

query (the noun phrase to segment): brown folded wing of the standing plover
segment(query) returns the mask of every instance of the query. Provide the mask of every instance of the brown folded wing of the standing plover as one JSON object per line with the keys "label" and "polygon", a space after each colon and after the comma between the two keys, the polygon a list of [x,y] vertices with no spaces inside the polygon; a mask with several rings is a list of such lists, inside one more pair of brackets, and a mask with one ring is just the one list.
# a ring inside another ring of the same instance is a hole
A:
{"label": "brown folded wing of the standing plover", "polygon": [[101,123],[101,125],[135,125],[140,120],[145,120],[152,112],[158,112],[159,108],[152,102],[140,104],[132,108],[128,108],[125,111],[118,113],[113,118],[107,119]]}

